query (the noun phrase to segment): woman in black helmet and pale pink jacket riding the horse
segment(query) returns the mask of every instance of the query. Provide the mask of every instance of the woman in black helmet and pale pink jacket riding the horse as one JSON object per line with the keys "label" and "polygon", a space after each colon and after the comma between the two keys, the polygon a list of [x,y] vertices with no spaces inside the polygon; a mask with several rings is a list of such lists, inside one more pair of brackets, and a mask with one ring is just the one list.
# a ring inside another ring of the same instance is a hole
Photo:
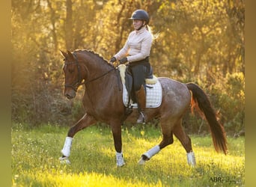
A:
{"label": "woman in black helmet and pale pink jacket riding the horse", "polygon": [[148,26],[149,16],[145,10],[135,10],[129,19],[133,20],[135,30],[129,33],[124,47],[109,62],[113,63],[119,60],[120,64],[129,63],[133,76],[133,90],[138,103],[139,116],[137,123],[145,123],[147,115],[145,114],[146,92],[144,80],[147,74],[152,71],[150,70],[149,56],[153,35]]}

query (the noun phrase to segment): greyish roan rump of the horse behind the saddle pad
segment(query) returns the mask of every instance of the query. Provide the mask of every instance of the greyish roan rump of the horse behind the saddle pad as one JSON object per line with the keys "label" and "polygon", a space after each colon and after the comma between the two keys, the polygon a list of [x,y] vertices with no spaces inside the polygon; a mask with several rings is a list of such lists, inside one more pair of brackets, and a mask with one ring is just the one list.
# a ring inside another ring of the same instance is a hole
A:
{"label": "greyish roan rump of the horse behind the saddle pad", "polygon": [[165,77],[159,78],[162,85],[161,111],[168,111],[169,114],[181,115],[189,107],[189,89],[181,82]]}

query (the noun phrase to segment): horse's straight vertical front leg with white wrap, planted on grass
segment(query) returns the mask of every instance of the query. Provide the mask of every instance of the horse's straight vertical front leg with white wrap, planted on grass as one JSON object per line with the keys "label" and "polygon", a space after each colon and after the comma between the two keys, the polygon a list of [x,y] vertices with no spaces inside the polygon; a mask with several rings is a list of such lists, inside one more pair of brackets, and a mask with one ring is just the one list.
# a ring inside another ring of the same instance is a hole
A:
{"label": "horse's straight vertical front leg with white wrap, planted on grass", "polygon": [[115,144],[115,156],[117,160],[117,166],[122,167],[125,165],[124,156],[122,152],[122,135],[121,135],[121,123],[115,122],[111,123],[112,134]]}

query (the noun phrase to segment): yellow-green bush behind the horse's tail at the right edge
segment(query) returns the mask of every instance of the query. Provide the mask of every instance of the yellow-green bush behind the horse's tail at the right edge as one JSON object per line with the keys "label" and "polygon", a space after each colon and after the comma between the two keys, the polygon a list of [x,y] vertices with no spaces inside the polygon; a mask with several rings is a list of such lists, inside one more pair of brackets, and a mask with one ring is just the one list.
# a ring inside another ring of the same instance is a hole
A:
{"label": "yellow-green bush behind the horse's tail at the right edge", "polygon": [[[215,79],[220,81],[207,85],[204,91],[211,93],[210,100],[228,135],[237,135],[245,129],[245,77],[243,73],[228,73],[225,78]],[[207,121],[199,114],[188,113],[185,118],[183,126],[187,132],[203,135],[209,132]]]}

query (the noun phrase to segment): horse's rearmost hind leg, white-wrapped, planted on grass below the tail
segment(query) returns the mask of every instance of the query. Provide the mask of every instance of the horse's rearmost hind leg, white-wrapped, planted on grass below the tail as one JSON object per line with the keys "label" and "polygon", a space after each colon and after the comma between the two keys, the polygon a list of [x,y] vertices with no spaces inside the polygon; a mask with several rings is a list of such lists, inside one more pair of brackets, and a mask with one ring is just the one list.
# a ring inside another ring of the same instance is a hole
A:
{"label": "horse's rearmost hind leg, white-wrapped, planted on grass below the tail", "polygon": [[195,154],[192,151],[191,139],[186,135],[186,132],[184,132],[183,127],[181,126],[181,120],[174,126],[173,132],[186,150],[188,164],[195,166]]}

